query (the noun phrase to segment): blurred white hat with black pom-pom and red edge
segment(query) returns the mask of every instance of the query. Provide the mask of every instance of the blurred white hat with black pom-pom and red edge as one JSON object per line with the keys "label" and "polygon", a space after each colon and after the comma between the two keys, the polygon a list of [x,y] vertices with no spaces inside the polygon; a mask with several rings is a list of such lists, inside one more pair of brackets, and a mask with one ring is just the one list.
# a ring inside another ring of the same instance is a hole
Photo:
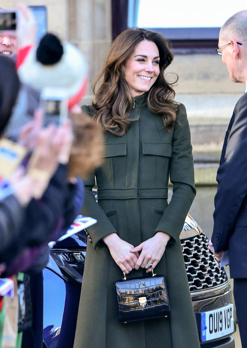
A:
{"label": "blurred white hat with black pom-pom and red edge", "polygon": [[17,72],[23,83],[38,91],[44,87],[66,88],[72,107],[86,92],[87,62],[77,47],[60,42],[61,50],[59,42],[55,35],[46,34],[38,47],[32,47],[27,53]]}

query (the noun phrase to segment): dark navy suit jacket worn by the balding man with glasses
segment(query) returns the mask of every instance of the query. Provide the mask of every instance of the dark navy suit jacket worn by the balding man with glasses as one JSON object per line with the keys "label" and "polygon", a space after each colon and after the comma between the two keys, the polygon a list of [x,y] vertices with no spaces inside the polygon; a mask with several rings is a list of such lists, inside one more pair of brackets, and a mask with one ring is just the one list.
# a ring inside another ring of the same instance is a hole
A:
{"label": "dark navy suit jacket worn by the balding man with glasses", "polygon": [[229,250],[231,278],[247,277],[247,94],[237,102],[226,131],[216,180],[212,242]]}

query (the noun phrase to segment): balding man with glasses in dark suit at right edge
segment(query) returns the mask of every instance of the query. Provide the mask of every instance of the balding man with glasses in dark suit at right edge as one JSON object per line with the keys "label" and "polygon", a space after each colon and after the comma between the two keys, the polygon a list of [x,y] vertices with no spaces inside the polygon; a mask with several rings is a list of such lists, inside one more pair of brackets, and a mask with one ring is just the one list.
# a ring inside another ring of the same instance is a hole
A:
{"label": "balding man with glasses in dark suit at right edge", "polygon": [[[222,55],[230,79],[247,82],[247,10],[239,11],[222,26],[217,53]],[[247,92],[247,87],[245,92]],[[217,172],[214,229],[209,248],[221,260],[229,253],[230,276],[242,348],[247,347],[247,93],[237,102],[223,144]]]}

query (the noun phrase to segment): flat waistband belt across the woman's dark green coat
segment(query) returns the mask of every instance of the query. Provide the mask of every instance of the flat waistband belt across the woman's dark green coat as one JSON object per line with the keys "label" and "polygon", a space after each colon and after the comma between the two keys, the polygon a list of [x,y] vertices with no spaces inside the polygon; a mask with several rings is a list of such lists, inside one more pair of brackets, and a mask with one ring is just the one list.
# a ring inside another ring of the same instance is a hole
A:
{"label": "flat waistband belt across the woman's dark green coat", "polygon": [[98,199],[168,198],[168,188],[162,189],[98,189]]}

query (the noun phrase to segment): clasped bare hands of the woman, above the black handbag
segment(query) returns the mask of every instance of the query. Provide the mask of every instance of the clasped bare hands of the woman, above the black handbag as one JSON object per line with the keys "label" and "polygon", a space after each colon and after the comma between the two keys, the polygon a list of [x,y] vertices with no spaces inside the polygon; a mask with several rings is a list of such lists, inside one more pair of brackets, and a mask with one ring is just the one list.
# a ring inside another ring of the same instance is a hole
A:
{"label": "clasped bare hands of the woman, above the black handbag", "polygon": [[159,231],[152,238],[134,247],[116,233],[103,238],[113,260],[126,274],[139,268],[146,268],[147,273],[151,272],[163,256],[169,239],[167,233]]}

